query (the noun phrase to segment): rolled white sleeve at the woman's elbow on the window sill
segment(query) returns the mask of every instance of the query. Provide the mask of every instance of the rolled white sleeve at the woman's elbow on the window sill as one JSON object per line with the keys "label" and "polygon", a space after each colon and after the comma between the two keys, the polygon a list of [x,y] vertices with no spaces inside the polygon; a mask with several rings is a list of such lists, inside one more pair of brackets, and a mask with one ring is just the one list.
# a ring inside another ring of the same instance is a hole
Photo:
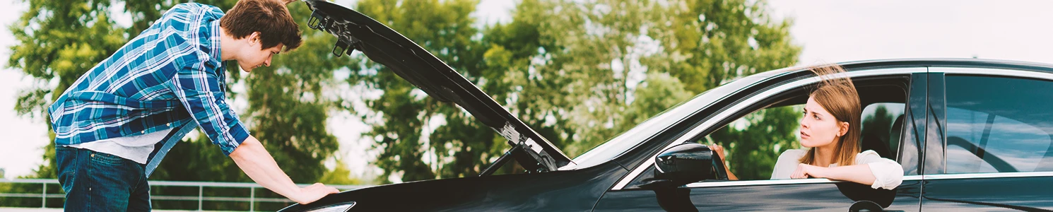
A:
{"label": "rolled white sleeve at the woman's elbow on the window sill", "polygon": [[903,182],[903,167],[895,160],[877,155],[872,150],[859,153],[856,156],[856,163],[870,167],[870,172],[874,174],[874,184],[870,186],[871,188],[892,190]]}

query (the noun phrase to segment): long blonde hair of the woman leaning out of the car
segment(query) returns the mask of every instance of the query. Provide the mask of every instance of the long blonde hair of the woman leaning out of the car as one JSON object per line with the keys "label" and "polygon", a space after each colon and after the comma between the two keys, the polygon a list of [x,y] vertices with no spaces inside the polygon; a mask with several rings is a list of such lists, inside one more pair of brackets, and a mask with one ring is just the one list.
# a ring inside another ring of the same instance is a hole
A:
{"label": "long blonde hair of the woman leaning out of the car", "polygon": [[[861,134],[859,123],[861,109],[859,107],[859,93],[855,90],[845,69],[837,64],[826,64],[812,66],[809,70],[822,79],[810,97],[815,99],[822,109],[826,109],[839,122],[848,122],[849,130],[839,140],[835,140],[837,147],[834,148],[833,162],[838,166],[855,165],[855,156],[859,153],[859,136]],[[808,154],[800,158],[801,163],[813,165],[815,162],[815,148],[809,149]]]}

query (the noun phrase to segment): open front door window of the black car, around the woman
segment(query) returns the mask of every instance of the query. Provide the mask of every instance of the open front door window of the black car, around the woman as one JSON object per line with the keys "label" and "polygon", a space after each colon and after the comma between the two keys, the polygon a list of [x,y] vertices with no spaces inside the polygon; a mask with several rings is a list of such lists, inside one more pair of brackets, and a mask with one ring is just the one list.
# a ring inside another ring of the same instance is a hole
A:
{"label": "open front door window of the black car, around the woman", "polygon": [[[863,151],[874,150],[882,157],[896,160],[902,131],[906,89],[870,83],[862,82],[857,86],[863,103],[860,114],[861,148]],[[781,95],[780,99],[772,100],[777,103],[742,115],[695,142],[722,146],[728,168],[739,180],[770,179],[782,152],[802,149],[797,132],[800,130],[801,113],[809,91],[804,89]]]}

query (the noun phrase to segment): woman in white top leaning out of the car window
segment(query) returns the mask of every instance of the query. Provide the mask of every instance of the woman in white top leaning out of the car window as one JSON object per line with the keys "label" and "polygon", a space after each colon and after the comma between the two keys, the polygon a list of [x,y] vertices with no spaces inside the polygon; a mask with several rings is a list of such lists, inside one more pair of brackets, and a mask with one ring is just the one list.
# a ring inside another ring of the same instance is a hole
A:
{"label": "woman in white top leaning out of the car window", "polygon": [[[809,149],[782,152],[775,162],[772,179],[828,178],[890,190],[899,186],[903,179],[899,163],[871,150],[859,152],[862,113],[859,94],[851,79],[831,76],[845,70],[824,65],[811,71],[822,81],[809,95],[800,119],[800,144]],[[723,158],[723,148],[713,149]]]}

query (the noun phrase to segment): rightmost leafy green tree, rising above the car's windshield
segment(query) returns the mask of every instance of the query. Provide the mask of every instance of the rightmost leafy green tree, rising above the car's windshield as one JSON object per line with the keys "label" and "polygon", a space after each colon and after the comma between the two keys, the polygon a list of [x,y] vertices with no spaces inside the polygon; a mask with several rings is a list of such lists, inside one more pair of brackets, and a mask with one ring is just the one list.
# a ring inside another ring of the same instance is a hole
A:
{"label": "rightmost leafy green tree, rising above the car's windshield", "polygon": [[[574,129],[573,133],[558,136],[562,140],[557,143],[567,144],[572,156],[686,99],[679,96],[789,66],[799,52],[789,42],[790,23],[771,21],[763,1],[538,1],[540,8],[535,9],[529,3],[520,4],[517,13],[536,14],[515,18],[548,21],[536,25],[542,34],[539,40],[552,44],[541,44],[538,51],[543,62],[521,69],[540,77],[519,79],[528,81],[524,88],[555,86],[523,92],[541,96],[526,102],[551,105],[520,109],[541,111],[541,117],[570,117],[564,128]],[[557,9],[545,9],[553,7]],[[641,73],[647,77],[638,78]],[[681,95],[631,98],[640,92],[634,86],[650,84],[640,81],[663,75],[682,86],[667,85],[664,91]],[[650,107],[638,110],[634,104]]]}

